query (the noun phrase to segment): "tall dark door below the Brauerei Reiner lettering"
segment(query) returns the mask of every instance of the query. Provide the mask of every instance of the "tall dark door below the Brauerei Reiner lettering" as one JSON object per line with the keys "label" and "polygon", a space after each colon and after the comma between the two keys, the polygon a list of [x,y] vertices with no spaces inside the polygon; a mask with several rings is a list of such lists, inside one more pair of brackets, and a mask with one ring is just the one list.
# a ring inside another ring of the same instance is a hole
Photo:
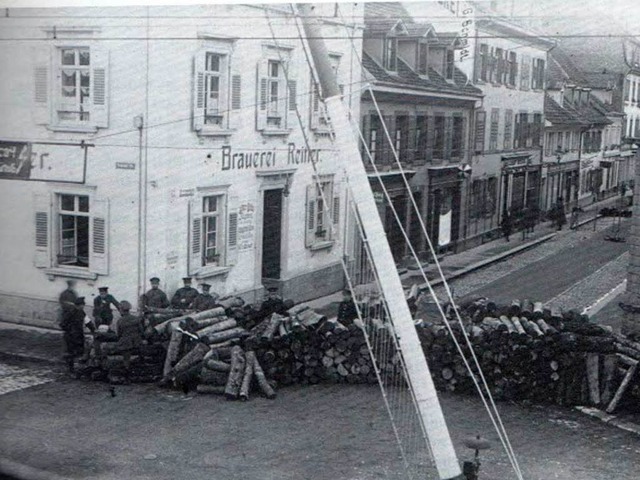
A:
{"label": "tall dark door below the Brauerei Reiner lettering", "polygon": [[265,190],[262,211],[262,277],[280,278],[282,189]]}

